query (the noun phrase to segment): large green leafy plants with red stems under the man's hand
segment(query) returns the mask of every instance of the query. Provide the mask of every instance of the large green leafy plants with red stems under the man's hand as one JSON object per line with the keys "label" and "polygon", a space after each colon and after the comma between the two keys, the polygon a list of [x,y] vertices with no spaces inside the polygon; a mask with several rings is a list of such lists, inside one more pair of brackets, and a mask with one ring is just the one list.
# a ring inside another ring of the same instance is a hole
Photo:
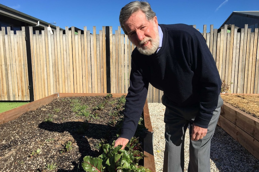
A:
{"label": "large green leafy plants with red stems under the man's hand", "polygon": [[84,157],[83,169],[87,172],[151,172],[138,164],[139,160],[145,157],[141,152],[138,138],[133,137],[124,150],[121,150],[121,147],[121,145],[114,147],[111,144],[103,144],[103,153],[100,156]]}

